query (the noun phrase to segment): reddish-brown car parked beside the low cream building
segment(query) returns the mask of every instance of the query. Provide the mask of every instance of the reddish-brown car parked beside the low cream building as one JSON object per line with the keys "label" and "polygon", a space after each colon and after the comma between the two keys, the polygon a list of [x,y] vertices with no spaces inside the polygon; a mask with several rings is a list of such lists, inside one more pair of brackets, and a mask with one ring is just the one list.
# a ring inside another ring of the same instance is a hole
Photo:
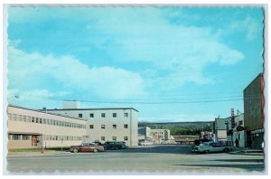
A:
{"label": "reddish-brown car parked beside the low cream building", "polygon": [[79,146],[70,146],[70,152],[78,153],[78,152],[103,152],[105,151],[104,146],[98,146],[95,143],[82,143]]}

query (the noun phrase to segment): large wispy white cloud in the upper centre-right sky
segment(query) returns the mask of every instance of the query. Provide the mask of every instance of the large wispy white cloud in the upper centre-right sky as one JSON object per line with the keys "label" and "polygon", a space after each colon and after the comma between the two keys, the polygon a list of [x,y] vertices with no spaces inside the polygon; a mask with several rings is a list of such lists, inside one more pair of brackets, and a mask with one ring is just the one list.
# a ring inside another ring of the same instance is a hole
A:
{"label": "large wispy white cloud in the upper centre-right sky", "polygon": [[[107,18],[96,19],[95,27],[89,31],[107,34],[97,46],[117,61],[147,62],[157,71],[167,71],[168,75],[163,78],[155,78],[172,83],[174,88],[190,81],[199,85],[212,83],[211,77],[203,75],[207,65],[233,65],[244,59],[242,52],[220,41],[215,29],[171,24],[163,18],[164,13],[155,8],[131,12],[123,9],[117,14],[107,14]],[[145,18],[134,18],[136,15]]]}

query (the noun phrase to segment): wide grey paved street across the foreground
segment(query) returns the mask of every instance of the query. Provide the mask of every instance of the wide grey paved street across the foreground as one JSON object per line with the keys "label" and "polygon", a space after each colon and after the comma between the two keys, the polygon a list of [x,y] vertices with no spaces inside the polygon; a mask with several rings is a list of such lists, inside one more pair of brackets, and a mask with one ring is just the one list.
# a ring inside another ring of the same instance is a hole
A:
{"label": "wide grey paved street across the foreground", "polygon": [[[17,172],[84,172],[88,174],[182,174],[207,172],[257,171],[264,174],[264,155],[192,154],[190,146],[141,146],[103,153],[69,153],[54,155],[9,155],[6,169]],[[49,172],[49,173],[48,173]],[[145,173],[144,173],[145,174]],[[202,174],[202,173],[201,173]]]}

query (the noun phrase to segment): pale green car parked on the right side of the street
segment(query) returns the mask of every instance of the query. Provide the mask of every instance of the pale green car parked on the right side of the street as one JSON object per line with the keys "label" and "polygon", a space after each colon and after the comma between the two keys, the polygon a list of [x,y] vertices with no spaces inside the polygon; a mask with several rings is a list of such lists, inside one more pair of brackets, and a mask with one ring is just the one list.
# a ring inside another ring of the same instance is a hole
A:
{"label": "pale green car parked on the right side of the street", "polygon": [[204,142],[199,146],[192,147],[192,152],[198,153],[210,153],[210,152],[229,152],[231,146],[220,145],[220,143],[215,142]]}

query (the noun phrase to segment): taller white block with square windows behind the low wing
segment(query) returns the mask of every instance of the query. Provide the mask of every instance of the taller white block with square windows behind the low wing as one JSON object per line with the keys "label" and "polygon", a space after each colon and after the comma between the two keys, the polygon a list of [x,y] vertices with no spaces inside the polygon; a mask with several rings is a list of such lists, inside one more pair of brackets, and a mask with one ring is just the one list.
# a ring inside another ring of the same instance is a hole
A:
{"label": "taller white block with square windows behind the low wing", "polygon": [[137,110],[135,108],[63,108],[48,112],[86,120],[84,142],[124,141],[137,146]]}

